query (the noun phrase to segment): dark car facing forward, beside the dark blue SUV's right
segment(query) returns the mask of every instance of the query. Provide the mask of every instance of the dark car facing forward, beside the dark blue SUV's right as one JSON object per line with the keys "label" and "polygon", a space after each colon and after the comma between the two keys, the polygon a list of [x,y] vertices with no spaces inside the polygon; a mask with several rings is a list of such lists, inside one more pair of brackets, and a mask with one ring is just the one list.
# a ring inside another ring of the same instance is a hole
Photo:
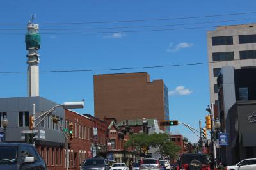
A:
{"label": "dark car facing forward, beside the dark blue SUV's right", "polygon": [[104,158],[86,158],[80,166],[81,170],[109,170],[109,165]]}

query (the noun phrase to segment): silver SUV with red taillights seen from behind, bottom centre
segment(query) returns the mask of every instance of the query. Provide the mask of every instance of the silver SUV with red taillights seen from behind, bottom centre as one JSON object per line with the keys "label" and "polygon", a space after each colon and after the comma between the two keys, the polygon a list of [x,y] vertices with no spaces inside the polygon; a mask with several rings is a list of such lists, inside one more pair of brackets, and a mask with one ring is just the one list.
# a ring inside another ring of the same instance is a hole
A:
{"label": "silver SUV with red taillights seen from behind, bottom centre", "polygon": [[159,160],[155,158],[145,158],[141,160],[140,170],[161,170]]}

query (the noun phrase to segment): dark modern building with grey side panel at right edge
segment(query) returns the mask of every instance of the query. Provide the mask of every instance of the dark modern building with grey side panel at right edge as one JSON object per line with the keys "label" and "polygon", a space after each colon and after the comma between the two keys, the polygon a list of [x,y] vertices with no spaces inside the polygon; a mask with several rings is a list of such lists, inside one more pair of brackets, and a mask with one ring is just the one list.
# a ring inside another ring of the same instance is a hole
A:
{"label": "dark modern building with grey side panel at right edge", "polygon": [[[256,68],[225,66],[218,75],[221,132],[228,133],[228,146],[220,148],[226,164],[256,157]],[[227,159],[225,159],[227,158]]]}

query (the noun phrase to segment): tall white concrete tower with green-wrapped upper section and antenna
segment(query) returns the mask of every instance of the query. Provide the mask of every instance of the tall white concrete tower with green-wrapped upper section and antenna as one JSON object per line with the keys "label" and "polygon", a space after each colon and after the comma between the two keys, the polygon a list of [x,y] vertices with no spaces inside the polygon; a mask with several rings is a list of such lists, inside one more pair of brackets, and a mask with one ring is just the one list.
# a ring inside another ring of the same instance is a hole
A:
{"label": "tall white concrete tower with green-wrapped upper section and antenna", "polygon": [[26,49],[28,64],[28,97],[39,96],[39,54],[41,36],[38,33],[39,25],[34,24],[35,17],[32,15],[31,20],[27,24],[26,33]]}

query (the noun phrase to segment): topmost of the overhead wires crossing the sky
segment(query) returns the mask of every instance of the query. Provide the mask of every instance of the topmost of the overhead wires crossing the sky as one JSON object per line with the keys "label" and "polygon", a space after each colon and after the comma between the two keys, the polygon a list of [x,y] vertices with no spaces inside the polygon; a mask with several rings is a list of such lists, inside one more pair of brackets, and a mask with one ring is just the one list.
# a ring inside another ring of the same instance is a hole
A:
{"label": "topmost of the overhead wires crossing the sky", "polygon": [[[232,15],[246,15],[253,14],[256,12],[242,12],[242,13],[226,13],[219,15],[200,15],[193,17],[173,17],[173,18],[161,18],[161,19],[143,19],[143,20],[112,20],[112,21],[91,21],[91,22],[39,22],[42,25],[69,25],[69,24],[107,24],[107,23],[119,23],[119,22],[147,22],[147,21],[159,21],[159,20],[179,20],[179,19],[197,19],[197,18],[207,18],[207,17],[223,17]],[[0,25],[24,25],[22,23],[0,23]]]}

